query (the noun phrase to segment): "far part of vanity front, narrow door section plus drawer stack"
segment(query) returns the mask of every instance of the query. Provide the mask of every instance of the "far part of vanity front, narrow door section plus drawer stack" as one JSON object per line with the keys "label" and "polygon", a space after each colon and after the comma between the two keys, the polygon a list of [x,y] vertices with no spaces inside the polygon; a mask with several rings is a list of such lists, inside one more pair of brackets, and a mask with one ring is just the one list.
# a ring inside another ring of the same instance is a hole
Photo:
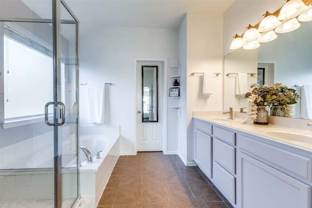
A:
{"label": "far part of vanity front, narrow door section plus drawer stack", "polygon": [[194,161],[235,204],[235,133],[194,119]]}

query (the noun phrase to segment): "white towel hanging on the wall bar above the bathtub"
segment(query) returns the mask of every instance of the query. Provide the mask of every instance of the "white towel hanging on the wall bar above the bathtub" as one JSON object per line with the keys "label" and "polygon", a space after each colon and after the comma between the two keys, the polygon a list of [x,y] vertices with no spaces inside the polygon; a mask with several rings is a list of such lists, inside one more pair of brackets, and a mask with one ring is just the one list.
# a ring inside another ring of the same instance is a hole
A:
{"label": "white towel hanging on the wall bar above the bathtub", "polygon": [[88,83],[88,122],[104,123],[105,84]]}

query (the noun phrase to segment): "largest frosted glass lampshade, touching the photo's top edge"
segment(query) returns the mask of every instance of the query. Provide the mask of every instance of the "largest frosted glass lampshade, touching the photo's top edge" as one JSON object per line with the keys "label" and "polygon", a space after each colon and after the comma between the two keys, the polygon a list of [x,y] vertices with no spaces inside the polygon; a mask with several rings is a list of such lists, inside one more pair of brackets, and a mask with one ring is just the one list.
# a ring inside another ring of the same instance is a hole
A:
{"label": "largest frosted glass lampshade, touching the photo's top edge", "polygon": [[308,6],[302,0],[287,0],[281,8],[277,19],[285,20],[298,16],[300,13],[308,9]]}

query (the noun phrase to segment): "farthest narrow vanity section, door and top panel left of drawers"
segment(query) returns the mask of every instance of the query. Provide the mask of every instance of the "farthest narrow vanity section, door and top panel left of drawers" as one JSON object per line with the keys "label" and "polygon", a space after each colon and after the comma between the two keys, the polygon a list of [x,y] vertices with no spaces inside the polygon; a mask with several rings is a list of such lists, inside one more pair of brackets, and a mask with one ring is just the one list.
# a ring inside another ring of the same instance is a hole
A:
{"label": "farthest narrow vanity section, door and top panel left of drawers", "polygon": [[212,125],[194,119],[194,161],[212,178]]}

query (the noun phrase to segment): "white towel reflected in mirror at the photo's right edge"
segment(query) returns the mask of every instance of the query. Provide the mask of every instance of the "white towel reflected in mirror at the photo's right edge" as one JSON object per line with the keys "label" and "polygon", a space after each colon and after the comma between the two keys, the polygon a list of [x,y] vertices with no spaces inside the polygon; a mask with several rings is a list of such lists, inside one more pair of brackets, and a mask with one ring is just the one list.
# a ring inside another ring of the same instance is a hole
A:
{"label": "white towel reflected in mirror at the photo's right edge", "polygon": [[304,85],[301,89],[301,117],[312,119],[312,85]]}

